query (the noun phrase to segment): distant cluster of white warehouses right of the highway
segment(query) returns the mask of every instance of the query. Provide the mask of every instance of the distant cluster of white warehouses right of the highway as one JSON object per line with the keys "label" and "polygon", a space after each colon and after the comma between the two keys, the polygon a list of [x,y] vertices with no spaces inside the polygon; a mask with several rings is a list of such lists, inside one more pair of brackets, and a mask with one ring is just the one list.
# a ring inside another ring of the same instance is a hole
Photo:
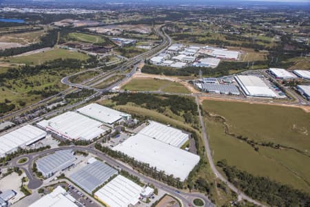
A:
{"label": "distant cluster of white warehouses right of the highway", "polygon": [[149,61],[155,65],[183,68],[185,66],[216,68],[221,59],[238,60],[239,51],[209,46],[184,46],[175,43],[165,53],[152,57]]}

